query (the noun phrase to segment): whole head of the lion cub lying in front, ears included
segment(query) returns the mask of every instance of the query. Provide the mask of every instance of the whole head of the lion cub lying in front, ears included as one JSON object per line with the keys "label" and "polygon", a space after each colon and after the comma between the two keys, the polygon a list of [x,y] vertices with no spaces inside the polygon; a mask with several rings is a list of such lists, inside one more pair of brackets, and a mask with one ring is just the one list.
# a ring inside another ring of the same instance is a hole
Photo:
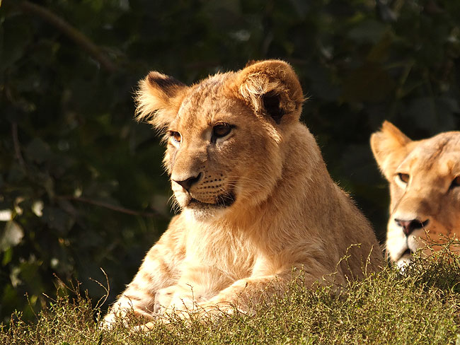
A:
{"label": "whole head of the lion cub lying in front, ears included", "polygon": [[303,100],[291,66],[277,60],[192,86],[152,71],[139,83],[137,119],[165,134],[176,200],[203,218],[268,197]]}

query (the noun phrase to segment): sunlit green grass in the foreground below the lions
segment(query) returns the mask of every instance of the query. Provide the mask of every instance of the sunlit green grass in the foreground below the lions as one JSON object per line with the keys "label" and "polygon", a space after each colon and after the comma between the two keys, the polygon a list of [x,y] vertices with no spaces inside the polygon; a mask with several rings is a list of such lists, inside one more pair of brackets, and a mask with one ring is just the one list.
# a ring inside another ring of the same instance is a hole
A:
{"label": "sunlit green grass in the foreground below the lions", "polygon": [[72,298],[50,300],[36,322],[12,315],[0,326],[0,344],[460,344],[459,281],[460,257],[447,252],[416,258],[403,273],[384,269],[341,293],[293,283],[289,296],[255,315],[171,320],[149,333],[121,322],[100,329],[100,308],[76,288]]}

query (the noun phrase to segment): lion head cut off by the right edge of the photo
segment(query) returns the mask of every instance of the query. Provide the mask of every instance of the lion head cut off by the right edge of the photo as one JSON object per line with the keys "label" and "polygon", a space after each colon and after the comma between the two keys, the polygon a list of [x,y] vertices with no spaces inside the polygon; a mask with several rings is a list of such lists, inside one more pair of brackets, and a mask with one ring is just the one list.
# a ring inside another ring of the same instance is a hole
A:
{"label": "lion head cut off by the right edge of the photo", "polygon": [[[460,234],[460,132],[412,141],[390,122],[371,136],[371,147],[390,183],[386,249],[403,265],[427,242]],[[433,246],[432,249],[437,246]],[[424,250],[429,253],[427,248]]]}

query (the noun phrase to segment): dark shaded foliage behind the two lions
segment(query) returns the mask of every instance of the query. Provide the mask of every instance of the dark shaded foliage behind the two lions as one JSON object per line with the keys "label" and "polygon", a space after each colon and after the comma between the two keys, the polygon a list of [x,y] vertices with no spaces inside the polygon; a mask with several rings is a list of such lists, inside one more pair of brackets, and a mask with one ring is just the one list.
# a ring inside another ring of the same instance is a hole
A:
{"label": "dark shaded foliage behind the two lions", "polygon": [[459,129],[459,40],[452,0],[3,0],[0,322],[33,317],[56,276],[98,300],[100,267],[113,301],[166,229],[163,147],[132,120],[148,71],[193,83],[290,62],[330,174],[384,242],[369,136],[384,119],[413,139]]}

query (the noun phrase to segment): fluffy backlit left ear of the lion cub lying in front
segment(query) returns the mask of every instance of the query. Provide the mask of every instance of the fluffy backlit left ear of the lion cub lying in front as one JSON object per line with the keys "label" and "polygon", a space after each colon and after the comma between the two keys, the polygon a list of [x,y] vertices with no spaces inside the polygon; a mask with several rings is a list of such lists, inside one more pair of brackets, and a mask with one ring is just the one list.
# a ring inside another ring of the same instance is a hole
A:
{"label": "fluffy backlit left ear of the lion cub lying in front", "polygon": [[188,87],[171,76],[150,72],[136,94],[136,119],[145,120],[156,129],[164,129],[176,117]]}

